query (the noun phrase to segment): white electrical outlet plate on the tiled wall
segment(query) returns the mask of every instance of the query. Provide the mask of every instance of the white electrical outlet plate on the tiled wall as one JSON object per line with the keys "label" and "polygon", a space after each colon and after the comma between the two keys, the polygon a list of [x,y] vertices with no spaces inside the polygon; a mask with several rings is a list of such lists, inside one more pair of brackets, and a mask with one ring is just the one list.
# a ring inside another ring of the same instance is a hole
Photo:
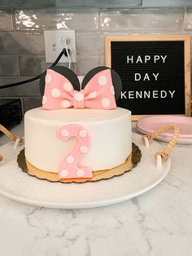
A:
{"label": "white electrical outlet plate on the tiled wall", "polygon": [[[71,62],[76,62],[76,33],[75,30],[45,30],[44,39],[46,46],[46,62],[53,63],[57,59],[59,53],[65,47],[64,40],[67,39],[68,49],[70,50]],[[68,57],[65,55],[59,60],[59,63],[68,63]]]}

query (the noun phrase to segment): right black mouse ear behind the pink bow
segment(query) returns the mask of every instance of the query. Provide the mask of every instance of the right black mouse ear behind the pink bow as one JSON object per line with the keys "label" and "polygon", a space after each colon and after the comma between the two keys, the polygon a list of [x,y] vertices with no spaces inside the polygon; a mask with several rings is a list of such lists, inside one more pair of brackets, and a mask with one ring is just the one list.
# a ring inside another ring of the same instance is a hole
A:
{"label": "right black mouse ear behind the pink bow", "polygon": [[116,100],[119,99],[120,97],[120,92],[122,90],[122,82],[120,79],[120,76],[118,75],[118,73],[116,73],[115,70],[111,69],[111,68],[107,68],[105,66],[101,66],[101,67],[97,67],[97,68],[93,68],[91,69],[84,77],[82,85],[81,85],[81,89],[84,89],[86,84],[89,82],[89,80],[94,77],[94,75],[96,75],[96,73],[101,72],[103,70],[106,69],[110,69],[111,70],[111,77],[112,77],[112,83],[115,89],[115,96],[116,96]]}

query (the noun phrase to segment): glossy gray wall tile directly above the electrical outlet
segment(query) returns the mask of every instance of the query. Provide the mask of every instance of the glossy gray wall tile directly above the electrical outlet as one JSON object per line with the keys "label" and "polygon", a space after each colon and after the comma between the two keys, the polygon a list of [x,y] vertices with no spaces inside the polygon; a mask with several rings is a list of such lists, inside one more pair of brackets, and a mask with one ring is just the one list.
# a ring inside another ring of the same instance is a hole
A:
{"label": "glossy gray wall tile directly above the electrical outlet", "polygon": [[17,30],[76,29],[97,30],[97,9],[22,9],[15,10]]}

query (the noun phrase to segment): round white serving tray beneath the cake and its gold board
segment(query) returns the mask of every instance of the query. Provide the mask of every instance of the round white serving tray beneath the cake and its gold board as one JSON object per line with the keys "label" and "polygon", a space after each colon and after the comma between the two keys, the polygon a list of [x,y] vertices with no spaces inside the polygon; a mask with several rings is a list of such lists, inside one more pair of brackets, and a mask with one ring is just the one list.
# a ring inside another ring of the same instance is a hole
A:
{"label": "round white serving tray beneath the cake and its gold board", "polygon": [[23,146],[13,149],[13,143],[7,143],[0,148],[0,153],[7,156],[0,164],[0,193],[29,205],[59,209],[93,208],[129,200],[154,188],[171,166],[169,158],[157,168],[154,154],[162,149],[159,143],[153,141],[146,148],[141,135],[136,134],[133,142],[142,150],[142,161],[137,167],[119,177],[94,183],[52,183],[31,177],[17,166],[17,155]]}

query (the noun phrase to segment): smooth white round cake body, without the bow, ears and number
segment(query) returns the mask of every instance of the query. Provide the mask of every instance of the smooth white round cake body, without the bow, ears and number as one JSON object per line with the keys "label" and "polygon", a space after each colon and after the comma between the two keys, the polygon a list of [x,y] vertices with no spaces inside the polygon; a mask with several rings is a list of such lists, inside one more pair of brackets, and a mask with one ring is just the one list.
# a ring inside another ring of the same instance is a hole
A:
{"label": "smooth white round cake body, without the bow, ears and number", "polygon": [[25,113],[25,157],[40,170],[59,172],[59,163],[76,144],[76,139],[62,141],[56,136],[62,126],[79,124],[89,130],[89,152],[80,166],[106,170],[120,166],[132,152],[131,112],[124,108],[58,109],[34,108]]}

